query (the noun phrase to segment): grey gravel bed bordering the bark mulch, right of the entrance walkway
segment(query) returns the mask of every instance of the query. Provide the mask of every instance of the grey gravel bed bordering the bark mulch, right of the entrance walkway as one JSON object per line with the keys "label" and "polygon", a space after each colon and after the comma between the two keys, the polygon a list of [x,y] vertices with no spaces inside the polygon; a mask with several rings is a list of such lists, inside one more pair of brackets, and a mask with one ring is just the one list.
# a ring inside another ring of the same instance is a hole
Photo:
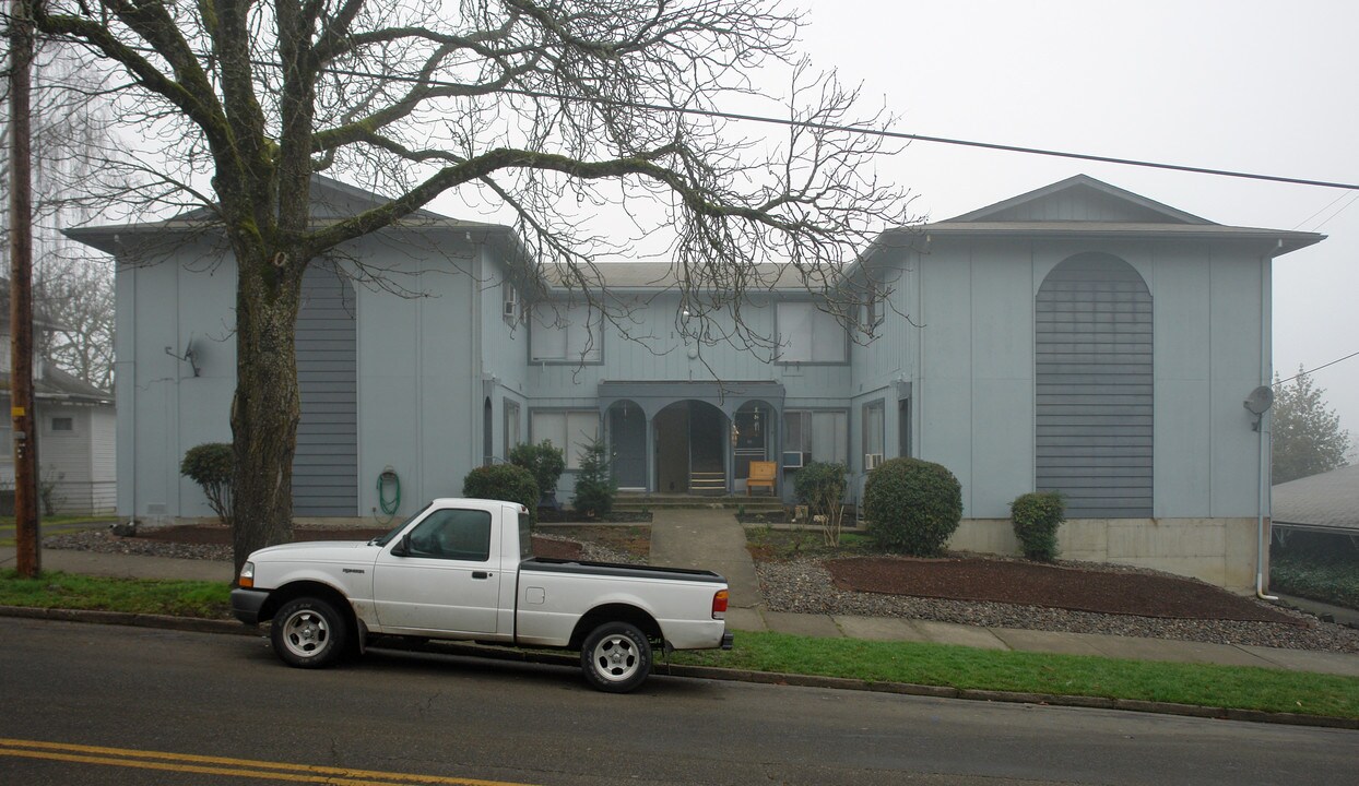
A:
{"label": "grey gravel bed bordering the bark mulch, right of the entrance walkway", "polygon": [[1007,603],[977,603],[904,595],[878,595],[871,592],[845,592],[836,589],[830,573],[821,565],[819,559],[757,562],[756,573],[760,576],[760,589],[764,595],[765,605],[771,611],[849,616],[897,616],[981,627],[1094,633],[1205,643],[1359,653],[1359,630],[1325,623],[1311,615],[1292,610],[1284,611],[1306,624],[1220,619],[1161,619],[1123,614],[1091,614],[1087,611],[1067,611],[1037,605],[1012,605]]}

